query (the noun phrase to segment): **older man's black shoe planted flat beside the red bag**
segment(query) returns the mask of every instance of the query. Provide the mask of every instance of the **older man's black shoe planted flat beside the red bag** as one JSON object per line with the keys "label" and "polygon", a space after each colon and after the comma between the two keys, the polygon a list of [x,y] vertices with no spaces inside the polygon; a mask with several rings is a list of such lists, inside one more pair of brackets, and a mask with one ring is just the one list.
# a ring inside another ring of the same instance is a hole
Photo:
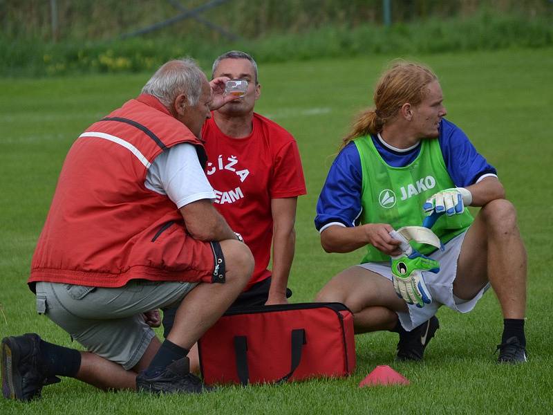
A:
{"label": "older man's black shoe planted flat beside the red bag", "polygon": [[151,394],[200,394],[209,391],[197,376],[189,371],[188,358],[182,358],[171,365],[156,371],[153,376],[148,376],[147,371],[142,371],[136,377],[136,389]]}

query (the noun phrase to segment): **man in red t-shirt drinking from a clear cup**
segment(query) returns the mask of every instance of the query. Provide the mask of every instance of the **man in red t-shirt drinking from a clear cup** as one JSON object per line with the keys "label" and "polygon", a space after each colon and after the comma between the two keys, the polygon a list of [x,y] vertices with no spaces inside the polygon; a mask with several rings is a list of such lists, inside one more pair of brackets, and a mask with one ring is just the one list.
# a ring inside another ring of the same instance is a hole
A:
{"label": "man in red t-shirt drinking from a clear cup", "polygon": [[[252,278],[231,308],[286,304],[292,295],[287,284],[297,196],[306,194],[297,143],[278,124],[254,113],[261,84],[250,55],[237,50],[221,55],[212,76],[247,81],[245,95],[214,111],[202,130],[215,207],[255,259]],[[171,310],[165,311],[163,324],[170,329]]]}

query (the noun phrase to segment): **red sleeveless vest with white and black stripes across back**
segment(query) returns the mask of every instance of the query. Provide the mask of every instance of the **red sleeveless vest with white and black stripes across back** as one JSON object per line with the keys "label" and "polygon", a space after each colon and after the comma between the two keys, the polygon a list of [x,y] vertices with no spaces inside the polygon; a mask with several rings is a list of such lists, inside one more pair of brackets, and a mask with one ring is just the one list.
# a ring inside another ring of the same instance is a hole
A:
{"label": "red sleeveless vest with white and black stripes across back", "polygon": [[198,241],[176,205],[144,186],[156,156],[180,142],[195,145],[205,163],[203,142],[151,95],[126,102],[82,133],[68,152],[32,257],[31,289],[38,281],[212,282],[194,269]]}

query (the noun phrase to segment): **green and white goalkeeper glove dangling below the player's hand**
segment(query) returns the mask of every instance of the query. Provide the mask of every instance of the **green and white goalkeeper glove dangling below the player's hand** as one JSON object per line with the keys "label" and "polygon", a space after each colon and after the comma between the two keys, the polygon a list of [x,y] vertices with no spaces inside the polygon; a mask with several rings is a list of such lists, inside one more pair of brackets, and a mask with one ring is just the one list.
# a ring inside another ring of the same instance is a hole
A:
{"label": "green and white goalkeeper glove dangling below the player's hand", "polygon": [[429,257],[425,257],[416,250],[411,255],[392,257],[392,282],[397,297],[404,299],[407,304],[416,304],[424,307],[424,304],[432,302],[427,285],[421,271],[438,273],[440,263]]}

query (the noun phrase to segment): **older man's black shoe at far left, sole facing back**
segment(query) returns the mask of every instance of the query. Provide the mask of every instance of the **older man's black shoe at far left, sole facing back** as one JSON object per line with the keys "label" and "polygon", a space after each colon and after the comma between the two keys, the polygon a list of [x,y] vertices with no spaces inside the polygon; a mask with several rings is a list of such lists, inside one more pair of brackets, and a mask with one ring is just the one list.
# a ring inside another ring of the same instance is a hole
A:
{"label": "older man's black shoe at far left, sole facing back", "polygon": [[34,333],[2,339],[2,394],[7,399],[39,398],[44,385],[59,382],[48,378],[40,355],[40,338]]}

